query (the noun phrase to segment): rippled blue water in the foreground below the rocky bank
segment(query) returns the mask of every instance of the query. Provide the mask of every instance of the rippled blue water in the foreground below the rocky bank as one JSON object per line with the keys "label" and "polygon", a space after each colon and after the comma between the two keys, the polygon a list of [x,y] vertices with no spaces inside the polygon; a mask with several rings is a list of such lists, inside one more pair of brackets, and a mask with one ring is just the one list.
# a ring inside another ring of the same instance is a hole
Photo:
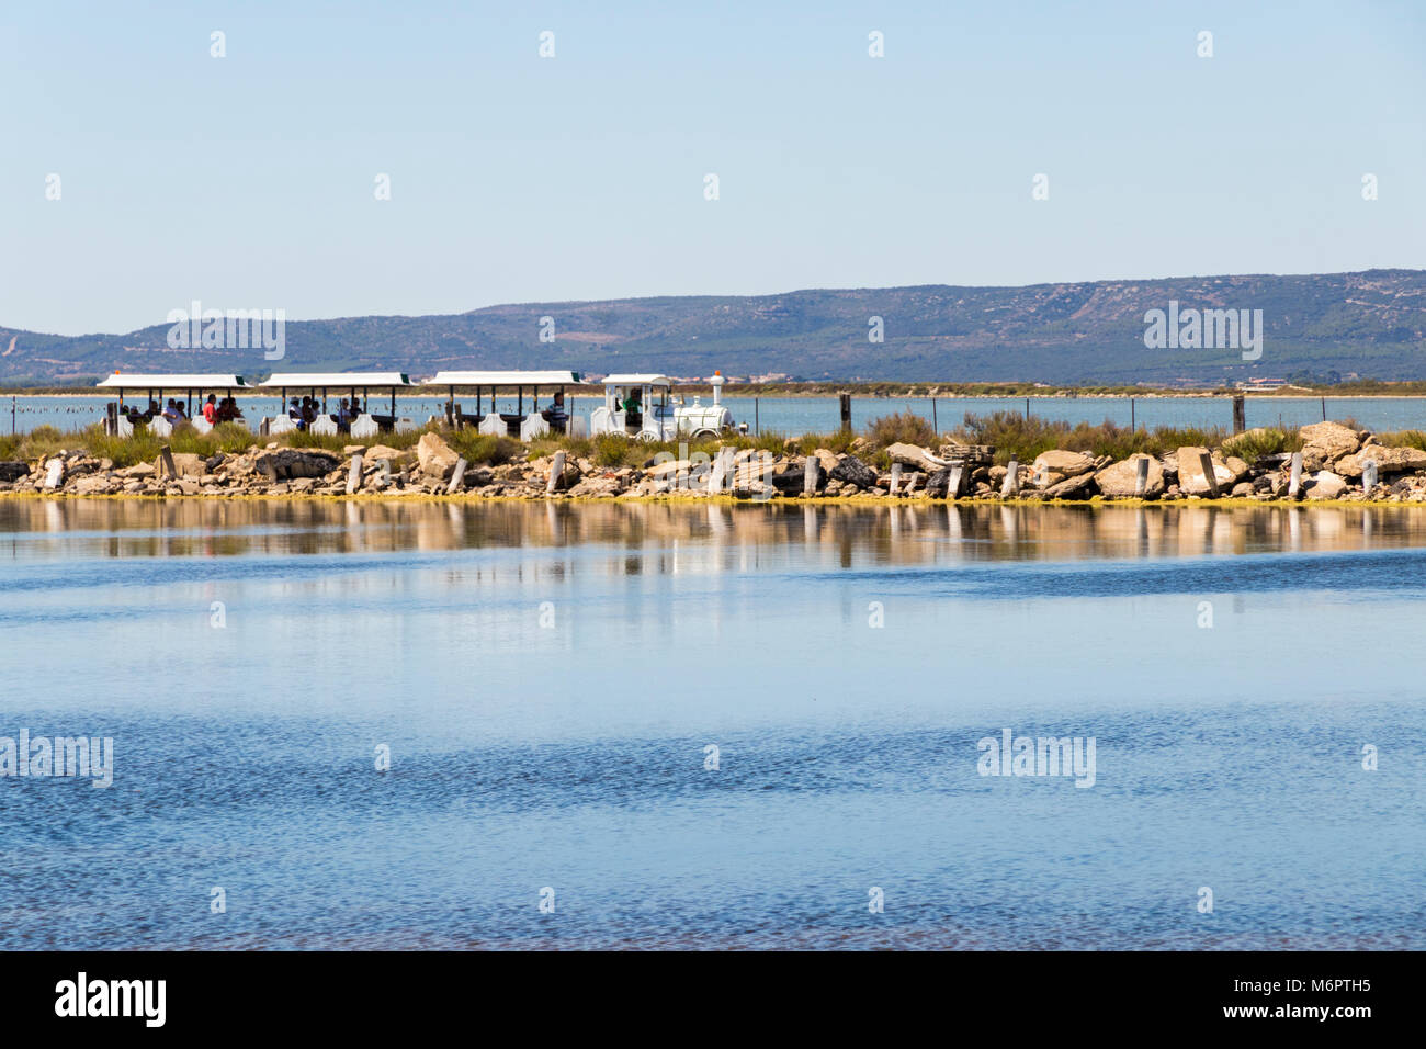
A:
{"label": "rippled blue water in the foreground below the rocky bank", "polygon": [[1420,949],[1423,569],[1409,508],[0,500],[0,736],[116,746],[0,779],[0,949]]}

